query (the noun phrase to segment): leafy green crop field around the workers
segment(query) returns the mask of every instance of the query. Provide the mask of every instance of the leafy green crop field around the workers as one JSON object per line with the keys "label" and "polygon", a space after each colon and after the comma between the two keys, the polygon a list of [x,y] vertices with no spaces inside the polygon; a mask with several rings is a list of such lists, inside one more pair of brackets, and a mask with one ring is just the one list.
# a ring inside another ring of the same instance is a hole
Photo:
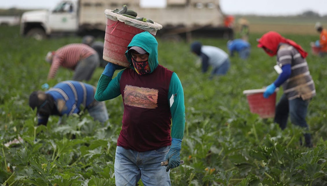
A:
{"label": "leafy green crop field around the workers", "polygon": [[[159,63],[175,71],[185,94],[185,131],[181,149],[184,164],[170,172],[172,185],[327,185],[327,66],[326,58],[311,53],[317,35],[282,34],[308,53],[307,62],[317,96],[309,105],[307,122],[313,148],[300,146],[302,130],[290,122],[282,131],[272,118],[250,113],[243,90],[271,84],[277,73],[275,57],[256,47],[263,33],[250,33],[251,55],[246,61],[231,57],[227,75],[209,80],[201,73],[190,43],[159,42]],[[195,39],[194,39],[195,40]],[[227,51],[226,39],[202,39]],[[115,185],[113,162],[123,113],[121,96],[105,101],[110,123],[102,127],[87,112],[65,118],[51,116],[37,126],[29,94],[69,80],[73,72],[60,68],[46,81],[45,54],[81,42],[80,37],[36,41],[22,38],[19,27],[0,27],[0,185],[103,186]],[[95,85],[103,69],[87,83]],[[282,89],[277,93],[281,96]],[[4,144],[21,137],[19,144]],[[139,185],[143,185],[142,181]]]}

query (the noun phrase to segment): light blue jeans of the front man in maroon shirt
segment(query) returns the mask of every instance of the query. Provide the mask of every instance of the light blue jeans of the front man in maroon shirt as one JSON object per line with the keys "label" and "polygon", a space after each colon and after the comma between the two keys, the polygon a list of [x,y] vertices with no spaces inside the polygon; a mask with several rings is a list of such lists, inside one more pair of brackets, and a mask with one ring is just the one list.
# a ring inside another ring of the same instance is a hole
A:
{"label": "light blue jeans of the front man in maroon shirt", "polygon": [[170,186],[170,171],[160,162],[165,161],[170,146],[156,150],[137,152],[117,146],[115,155],[116,186],[135,186],[142,179],[145,186]]}

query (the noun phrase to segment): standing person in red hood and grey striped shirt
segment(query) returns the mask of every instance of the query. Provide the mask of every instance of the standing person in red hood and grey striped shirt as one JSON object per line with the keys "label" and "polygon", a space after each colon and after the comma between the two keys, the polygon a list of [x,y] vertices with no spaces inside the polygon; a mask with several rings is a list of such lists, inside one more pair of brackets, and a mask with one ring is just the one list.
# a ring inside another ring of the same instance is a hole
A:
{"label": "standing person in red hood and grey striped shirt", "polygon": [[[276,105],[274,122],[284,130],[290,115],[291,122],[304,129],[305,146],[312,147],[311,134],[305,118],[309,102],[316,95],[316,89],[306,61],[308,54],[296,42],[282,37],[277,32],[267,32],[257,41],[258,47],[269,56],[276,55],[277,67],[280,68],[278,78],[267,86],[263,94],[268,98],[277,87],[283,87],[284,93]],[[302,141],[300,142],[302,144]]]}

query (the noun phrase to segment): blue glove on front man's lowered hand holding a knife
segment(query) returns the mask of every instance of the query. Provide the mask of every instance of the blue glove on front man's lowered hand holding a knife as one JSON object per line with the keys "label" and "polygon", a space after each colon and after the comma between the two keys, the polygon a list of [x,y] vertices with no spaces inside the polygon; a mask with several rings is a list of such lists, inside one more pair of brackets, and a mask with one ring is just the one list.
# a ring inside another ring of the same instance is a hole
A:
{"label": "blue glove on front man's lowered hand holding a knife", "polygon": [[169,169],[178,167],[181,163],[181,157],[180,157],[180,151],[181,151],[181,145],[182,145],[182,140],[181,139],[176,139],[173,138],[171,140],[171,146],[169,149],[169,152],[166,156],[166,161],[168,160],[169,163],[166,168],[166,172],[169,171]]}

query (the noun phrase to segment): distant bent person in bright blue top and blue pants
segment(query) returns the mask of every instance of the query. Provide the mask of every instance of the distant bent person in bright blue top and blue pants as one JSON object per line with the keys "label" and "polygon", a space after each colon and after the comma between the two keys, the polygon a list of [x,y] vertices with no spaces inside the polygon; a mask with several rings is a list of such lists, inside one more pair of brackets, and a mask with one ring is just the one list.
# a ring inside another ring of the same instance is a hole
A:
{"label": "distant bent person in bright blue top and blue pants", "polygon": [[248,59],[250,56],[251,45],[243,39],[234,39],[227,42],[227,48],[230,56],[234,56],[235,52],[241,59]]}

